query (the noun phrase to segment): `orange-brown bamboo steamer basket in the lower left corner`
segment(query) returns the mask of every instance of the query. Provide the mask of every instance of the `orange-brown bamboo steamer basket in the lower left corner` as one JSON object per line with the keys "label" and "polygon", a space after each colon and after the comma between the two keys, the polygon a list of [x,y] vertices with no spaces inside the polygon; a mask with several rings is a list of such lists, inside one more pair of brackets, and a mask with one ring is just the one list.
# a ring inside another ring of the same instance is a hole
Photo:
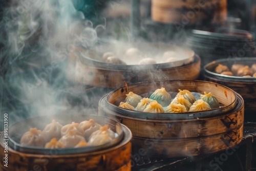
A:
{"label": "orange-brown bamboo steamer basket in the lower left corner", "polygon": [[[31,127],[38,130],[52,122],[62,125],[93,119],[100,125],[108,124],[115,133],[113,141],[96,146],[45,148],[20,144],[19,140]],[[9,126],[8,167],[1,157],[0,170],[131,170],[132,133],[114,120],[93,115],[39,116],[20,120]],[[0,135],[0,154],[5,156],[4,134]]]}

